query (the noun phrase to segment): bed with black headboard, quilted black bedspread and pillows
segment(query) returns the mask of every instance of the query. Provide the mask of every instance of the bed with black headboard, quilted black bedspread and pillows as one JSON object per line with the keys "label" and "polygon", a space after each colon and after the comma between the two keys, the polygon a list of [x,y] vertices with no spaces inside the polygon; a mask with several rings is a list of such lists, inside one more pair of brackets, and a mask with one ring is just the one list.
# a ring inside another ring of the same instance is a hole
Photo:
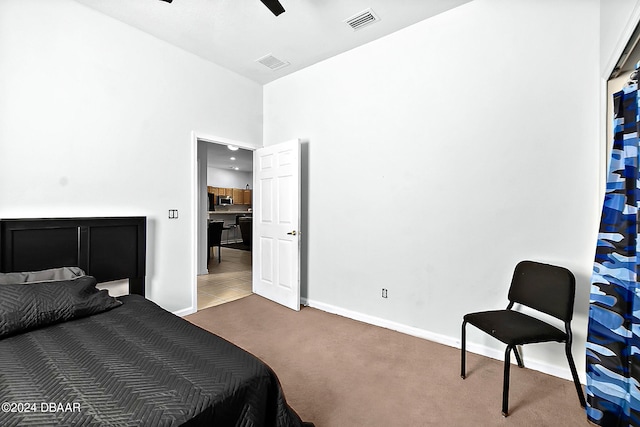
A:
{"label": "bed with black headboard, quilted black bedspread and pillows", "polygon": [[[144,298],[145,233],[144,217],[0,221],[0,425],[312,425],[266,364]],[[129,295],[96,289],[123,278]]]}

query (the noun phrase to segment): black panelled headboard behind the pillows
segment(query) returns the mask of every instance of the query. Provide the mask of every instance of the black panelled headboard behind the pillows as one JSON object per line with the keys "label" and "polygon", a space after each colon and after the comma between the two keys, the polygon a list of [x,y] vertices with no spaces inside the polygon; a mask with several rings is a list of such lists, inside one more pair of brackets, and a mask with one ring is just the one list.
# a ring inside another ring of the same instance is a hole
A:
{"label": "black panelled headboard behind the pillows", "polygon": [[80,267],[144,296],[146,217],[0,220],[0,272]]}

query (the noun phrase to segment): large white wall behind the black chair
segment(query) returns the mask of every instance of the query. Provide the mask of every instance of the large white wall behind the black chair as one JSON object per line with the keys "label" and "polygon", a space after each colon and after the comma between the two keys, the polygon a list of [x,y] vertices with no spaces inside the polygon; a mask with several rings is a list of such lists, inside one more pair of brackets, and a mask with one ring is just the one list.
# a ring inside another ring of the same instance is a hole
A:
{"label": "large white wall behind the black chair", "polygon": [[[464,313],[506,306],[519,260],[563,265],[583,372],[599,27],[596,0],[476,0],[266,85],[265,145],[310,141],[308,302],[457,345]],[[568,375],[557,344],[525,358]]]}

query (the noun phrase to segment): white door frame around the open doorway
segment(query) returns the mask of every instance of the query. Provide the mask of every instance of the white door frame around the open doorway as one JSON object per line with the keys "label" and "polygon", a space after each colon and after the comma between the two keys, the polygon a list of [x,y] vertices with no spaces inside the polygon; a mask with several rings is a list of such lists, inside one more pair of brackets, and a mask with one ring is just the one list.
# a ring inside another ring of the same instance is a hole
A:
{"label": "white door frame around the open doorway", "polygon": [[191,236],[191,308],[189,309],[189,313],[185,313],[185,315],[198,311],[198,242],[200,236],[198,226],[198,199],[200,191],[198,188],[198,141],[220,145],[235,145],[236,147],[250,151],[255,151],[260,148],[257,145],[243,141],[209,135],[203,132],[191,132],[191,217],[189,218]]}

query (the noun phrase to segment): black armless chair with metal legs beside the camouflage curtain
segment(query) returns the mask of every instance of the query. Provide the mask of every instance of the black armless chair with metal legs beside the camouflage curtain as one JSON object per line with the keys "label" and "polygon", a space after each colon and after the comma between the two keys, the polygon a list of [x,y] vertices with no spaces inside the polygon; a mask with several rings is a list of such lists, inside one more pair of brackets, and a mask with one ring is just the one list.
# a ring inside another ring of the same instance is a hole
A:
{"label": "black armless chair with metal legs beside the camouflage curtain", "polygon": [[[582,385],[578,379],[576,365],[571,355],[571,319],[575,297],[575,277],[563,267],[541,264],[534,261],[518,263],[509,288],[509,305],[506,310],[470,313],[462,321],[462,348],[460,375],[465,373],[466,325],[472,324],[494,338],[507,344],[504,357],[504,382],[502,389],[502,415],[509,414],[509,373],[511,351],[518,366],[523,368],[522,358],[516,346],[540,342],[564,342],[565,353],[573,382],[578,392],[580,405],[586,407]],[[533,308],[564,322],[564,331],[535,317],[513,310],[514,303]]]}

